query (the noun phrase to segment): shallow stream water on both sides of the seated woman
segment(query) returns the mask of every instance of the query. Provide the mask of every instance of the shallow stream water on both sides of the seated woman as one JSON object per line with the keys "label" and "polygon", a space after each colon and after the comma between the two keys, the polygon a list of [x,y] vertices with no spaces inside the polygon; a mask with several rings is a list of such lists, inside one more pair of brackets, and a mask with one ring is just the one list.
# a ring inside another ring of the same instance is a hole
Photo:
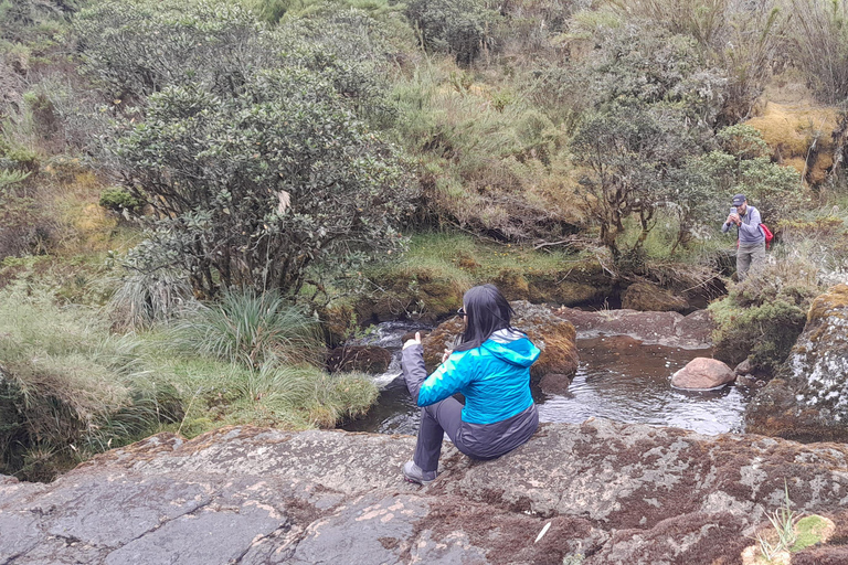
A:
{"label": "shallow stream water on both sides of the seated woman", "polygon": [[[391,329],[378,330],[383,331],[378,341],[386,343],[381,347],[399,350],[400,335],[412,330],[402,322],[391,323],[394,324]],[[386,333],[399,331],[389,347]],[[577,351],[580,367],[566,394],[548,394],[537,384],[531,385],[541,422],[579,424],[597,416],[709,435],[744,430],[743,414],[750,399],[745,390],[733,385],[708,392],[671,387],[671,375],[678,369],[697,356],[710,356],[710,350],[645,345],[626,335],[611,335],[577,339]],[[378,405],[367,417],[350,422],[343,428],[381,434],[416,433],[418,408],[399,375],[396,353],[390,371],[375,376],[375,382],[383,387]]]}

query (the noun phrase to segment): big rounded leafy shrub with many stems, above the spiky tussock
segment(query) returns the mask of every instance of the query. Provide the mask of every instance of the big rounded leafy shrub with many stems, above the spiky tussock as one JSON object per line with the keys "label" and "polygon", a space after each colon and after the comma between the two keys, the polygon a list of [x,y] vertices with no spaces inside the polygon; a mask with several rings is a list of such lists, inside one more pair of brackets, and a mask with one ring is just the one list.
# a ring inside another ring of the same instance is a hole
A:
{"label": "big rounded leafy shrub with many stems, above the spiky tussock", "polygon": [[174,252],[165,256],[208,296],[297,292],[316,263],[400,243],[392,226],[410,191],[394,149],[305,70],[261,73],[237,97],[165,88],[115,152],[159,216],[155,241]]}

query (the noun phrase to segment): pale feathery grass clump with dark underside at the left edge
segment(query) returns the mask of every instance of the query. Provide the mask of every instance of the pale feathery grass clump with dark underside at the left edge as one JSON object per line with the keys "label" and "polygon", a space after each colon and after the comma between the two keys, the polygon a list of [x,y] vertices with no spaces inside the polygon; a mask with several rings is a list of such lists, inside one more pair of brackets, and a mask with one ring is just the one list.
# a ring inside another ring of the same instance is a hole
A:
{"label": "pale feathery grass clump with dark underside at the left edge", "polygon": [[13,284],[0,334],[0,472],[49,480],[176,418],[167,387],[147,386],[135,338],[109,337],[93,309]]}

